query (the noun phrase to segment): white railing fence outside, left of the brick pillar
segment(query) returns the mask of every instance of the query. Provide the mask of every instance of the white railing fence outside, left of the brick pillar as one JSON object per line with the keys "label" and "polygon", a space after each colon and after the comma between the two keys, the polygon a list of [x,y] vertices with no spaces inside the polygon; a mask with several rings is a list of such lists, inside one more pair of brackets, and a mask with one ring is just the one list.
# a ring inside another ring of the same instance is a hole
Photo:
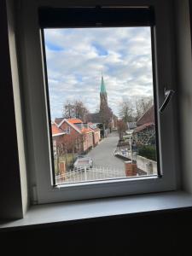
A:
{"label": "white railing fence outside, left of the brick pillar", "polygon": [[63,175],[56,176],[55,182],[56,184],[79,183],[118,177],[125,177],[125,170],[94,166],[90,169],[79,168],[77,170],[70,170]]}

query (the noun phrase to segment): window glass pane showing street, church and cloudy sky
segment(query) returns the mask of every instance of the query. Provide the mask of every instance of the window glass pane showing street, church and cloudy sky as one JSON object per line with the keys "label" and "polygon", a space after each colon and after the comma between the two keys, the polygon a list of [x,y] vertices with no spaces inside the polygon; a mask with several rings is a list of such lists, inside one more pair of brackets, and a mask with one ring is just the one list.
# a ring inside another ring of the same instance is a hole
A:
{"label": "window glass pane showing street, church and cloudy sky", "polygon": [[56,183],[157,175],[151,28],[44,29]]}

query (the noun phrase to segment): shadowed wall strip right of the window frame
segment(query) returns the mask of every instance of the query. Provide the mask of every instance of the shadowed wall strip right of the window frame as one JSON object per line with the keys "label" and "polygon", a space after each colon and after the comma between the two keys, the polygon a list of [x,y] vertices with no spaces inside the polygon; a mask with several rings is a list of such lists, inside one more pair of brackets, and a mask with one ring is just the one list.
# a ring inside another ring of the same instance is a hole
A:
{"label": "shadowed wall strip right of the window frame", "polygon": [[192,193],[192,58],[189,0],[175,1],[175,17],[182,186],[184,190]]}

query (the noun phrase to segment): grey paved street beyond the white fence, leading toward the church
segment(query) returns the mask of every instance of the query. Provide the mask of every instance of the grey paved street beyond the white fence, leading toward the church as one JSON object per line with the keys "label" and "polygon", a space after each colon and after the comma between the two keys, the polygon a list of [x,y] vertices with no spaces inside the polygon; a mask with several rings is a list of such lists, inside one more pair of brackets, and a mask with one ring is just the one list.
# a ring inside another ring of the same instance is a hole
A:
{"label": "grey paved street beyond the white fence, leading toward the church", "polygon": [[87,155],[93,159],[93,165],[111,168],[112,170],[125,170],[124,161],[113,155],[118,141],[118,133],[112,132],[96,148],[90,150]]}

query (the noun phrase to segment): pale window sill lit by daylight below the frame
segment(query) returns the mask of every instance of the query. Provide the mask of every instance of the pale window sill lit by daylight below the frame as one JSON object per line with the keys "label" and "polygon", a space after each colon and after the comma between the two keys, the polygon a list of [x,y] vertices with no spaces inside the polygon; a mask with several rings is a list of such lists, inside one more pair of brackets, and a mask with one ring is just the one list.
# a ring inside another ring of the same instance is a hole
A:
{"label": "pale window sill lit by daylight below the frame", "polygon": [[192,195],[183,191],[38,205],[30,207],[25,218],[1,223],[0,230],[132,216],[190,207],[192,208]]}

